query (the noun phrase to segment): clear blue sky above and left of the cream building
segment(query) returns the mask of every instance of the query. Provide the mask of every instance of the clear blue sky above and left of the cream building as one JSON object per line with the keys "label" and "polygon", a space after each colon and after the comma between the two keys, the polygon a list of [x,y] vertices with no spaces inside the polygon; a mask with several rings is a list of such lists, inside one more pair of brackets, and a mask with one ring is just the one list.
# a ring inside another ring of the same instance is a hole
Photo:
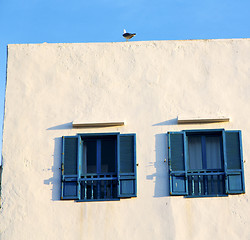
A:
{"label": "clear blue sky above and left of the cream building", "polygon": [[0,151],[7,45],[250,37],[249,0],[0,0]]}

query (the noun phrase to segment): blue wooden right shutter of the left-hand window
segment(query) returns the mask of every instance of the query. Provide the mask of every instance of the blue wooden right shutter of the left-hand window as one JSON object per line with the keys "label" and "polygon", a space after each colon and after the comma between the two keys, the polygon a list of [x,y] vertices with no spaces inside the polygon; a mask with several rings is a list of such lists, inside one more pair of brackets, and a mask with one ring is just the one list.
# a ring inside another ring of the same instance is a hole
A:
{"label": "blue wooden right shutter of the left-hand window", "polygon": [[118,138],[118,197],[136,197],[136,137],[121,134]]}

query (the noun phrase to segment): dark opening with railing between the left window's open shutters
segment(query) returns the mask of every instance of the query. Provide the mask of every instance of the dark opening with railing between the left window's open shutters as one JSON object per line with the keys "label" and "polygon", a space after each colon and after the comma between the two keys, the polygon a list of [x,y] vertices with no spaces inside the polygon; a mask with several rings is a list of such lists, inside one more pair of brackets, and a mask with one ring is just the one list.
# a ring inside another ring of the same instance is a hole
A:
{"label": "dark opening with railing between the left window's open shutters", "polygon": [[117,139],[82,137],[82,142],[81,199],[117,198]]}

